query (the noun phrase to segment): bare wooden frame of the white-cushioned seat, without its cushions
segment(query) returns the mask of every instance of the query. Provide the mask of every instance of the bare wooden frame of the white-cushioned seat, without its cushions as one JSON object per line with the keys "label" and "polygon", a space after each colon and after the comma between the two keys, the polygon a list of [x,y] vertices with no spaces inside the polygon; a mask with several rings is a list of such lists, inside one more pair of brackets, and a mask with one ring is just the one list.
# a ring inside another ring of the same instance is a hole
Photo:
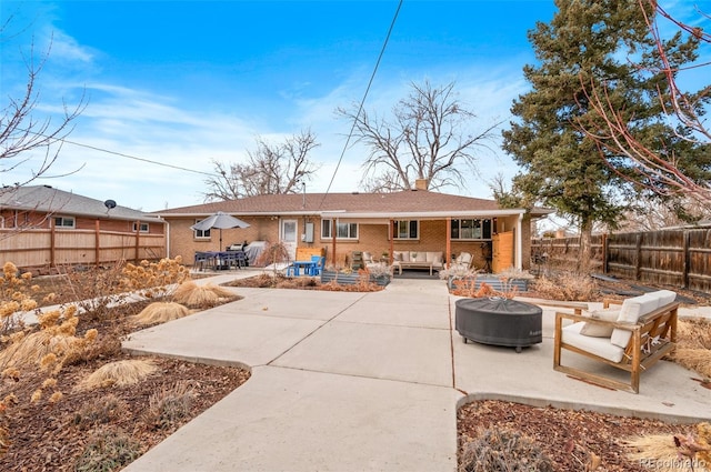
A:
{"label": "bare wooden frame of the white-cushioned seat, without its cushions", "polygon": [[[621,304],[620,300],[604,300],[603,307],[607,309],[610,304]],[[553,369],[564,372],[573,378],[583,381],[600,384],[615,390],[624,390],[632,393],[640,391],[640,374],[661,358],[671,352],[677,343],[677,321],[678,321],[679,302],[668,303],[657,310],[640,317],[637,323],[622,323],[615,321],[603,321],[591,319],[581,314],[555,313],[555,343],[553,347]],[[584,321],[588,323],[602,324],[611,328],[619,328],[631,331],[632,335],[624,349],[624,355],[620,362],[611,362],[608,359],[600,358],[595,354],[567,344],[561,341],[563,320],[572,320],[573,322]],[[652,342],[652,340],[655,342]],[[642,349],[644,348],[644,349]],[[630,373],[630,382],[621,382],[580,369],[561,364],[561,351],[568,349],[578,354],[585,355],[600,362],[604,362],[617,369],[622,369]]]}

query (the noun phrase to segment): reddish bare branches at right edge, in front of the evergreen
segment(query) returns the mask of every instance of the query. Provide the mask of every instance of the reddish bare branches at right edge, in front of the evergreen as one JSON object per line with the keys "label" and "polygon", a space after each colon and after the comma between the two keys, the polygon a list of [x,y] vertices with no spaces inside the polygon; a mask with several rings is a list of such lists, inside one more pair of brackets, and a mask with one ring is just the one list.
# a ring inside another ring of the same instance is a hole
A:
{"label": "reddish bare branches at right edge, in front of the evergreen", "polygon": [[[711,86],[694,93],[681,90],[678,84],[679,73],[688,69],[675,66],[674,58],[670,57],[659,31],[658,17],[670,20],[680,31],[700,43],[711,44],[711,34],[672,18],[655,0],[639,0],[639,4],[654,39],[658,58],[655,69],[648,72],[664,78],[664,87],[658,90],[658,100],[669,121],[677,125],[678,142],[688,144],[688,155],[675,151],[669,142],[658,147],[645,145],[625,119],[629,113],[612,107],[610,90],[604,86],[587,87],[590,106],[603,119],[604,125],[602,129],[593,129],[583,124],[583,131],[595,141],[600,150],[609,150],[627,158],[623,171],[615,163],[609,162],[618,174],[662,197],[691,198],[704,203],[708,209],[711,204],[711,129],[704,113],[711,102]],[[651,6],[651,11],[655,11],[658,16],[648,16],[647,6]],[[702,12],[700,16],[711,19],[711,16]],[[710,66],[711,62],[702,62],[691,67]],[[689,159],[691,152],[695,152],[693,159]]]}

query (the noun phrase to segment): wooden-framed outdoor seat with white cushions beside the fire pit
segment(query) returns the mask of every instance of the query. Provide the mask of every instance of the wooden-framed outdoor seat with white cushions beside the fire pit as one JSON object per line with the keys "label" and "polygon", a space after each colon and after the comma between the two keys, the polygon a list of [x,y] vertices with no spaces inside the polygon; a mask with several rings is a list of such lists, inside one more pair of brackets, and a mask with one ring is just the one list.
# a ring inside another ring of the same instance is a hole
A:
{"label": "wooden-framed outdoor seat with white cushions beside the fire pit", "polygon": [[[639,393],[640,374],[674,349],[679,311],[675,295],[661,290],[622,302],[605,300],[599,318],[591,318],[594,312],[590,315],[557,312],[553,369],[591,383]],[[615,304],[620,304],[617,318]],[[573,323],[564,327],[563,320]],[[597,334],[583,334],[585,328]],[[605,337],[607,332],[611,334]],[[562,365],[563,349],[627,371],[630,381]]]}

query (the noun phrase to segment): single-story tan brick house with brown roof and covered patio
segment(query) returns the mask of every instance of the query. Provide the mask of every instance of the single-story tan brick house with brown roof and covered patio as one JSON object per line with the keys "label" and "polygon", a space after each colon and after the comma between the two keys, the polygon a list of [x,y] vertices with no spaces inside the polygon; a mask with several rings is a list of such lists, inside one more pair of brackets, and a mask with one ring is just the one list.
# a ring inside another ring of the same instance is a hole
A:
{"label": "single-story tan brick house with brown roof and covered patio", "polygon": [[[222,211],[249,228],[193,231],[196,222]],[[281,242],[291,257],[297,248],[323,249],[327,265],[346,267],[353,251],[392,262],[399,251],[444,255],[462,251],[473,267],[500,272],[530,265],[531,221],[552,210],[502,209],[493,200],[423,189],[393,193],[270,194],[167,209],[156,212],[169,224],[168,254],[186,263],[197,251],[224,251],[243,241]],[[490,254],[493,253],[491,257]]]}

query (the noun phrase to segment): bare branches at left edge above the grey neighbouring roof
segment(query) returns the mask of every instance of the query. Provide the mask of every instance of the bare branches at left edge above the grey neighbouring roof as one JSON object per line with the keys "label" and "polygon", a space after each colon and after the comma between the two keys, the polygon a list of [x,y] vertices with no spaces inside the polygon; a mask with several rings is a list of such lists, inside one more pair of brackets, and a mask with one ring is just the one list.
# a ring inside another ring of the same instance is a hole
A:
{"label": "bare branches at left edge above the grey neighbouring roof", "polygon": [[[6,42],[6,32],[12,21],[10,17],[0,27],[0,42]],[[48,61],[51,44],[39,58],[34,53],[34,44],[24,60],[27,68],[27,86],[19,97],[8,96],[8,103],[0,112],[0,172],[12,172],[29,161],[26,155],[32,151],[43,150],[44,158],[39,167],[32,169],[31,175],[13,182],[14,188],[26,185],[33,180],[46,177],[50,167],[57,161],[61,142],[73,130],[73,121],[86,108],[84,94],[76,107],[62,101],[62,117],[52,121],[51,117],[38,118],[37,108],[40,102],[38,77]],[[54,145],[58,144],[58,145]],[[56,177],[56,175],[53,175]],[[11,188],[10,188],[11,189]],[[8,191],[6,188],[0,192]]]}

